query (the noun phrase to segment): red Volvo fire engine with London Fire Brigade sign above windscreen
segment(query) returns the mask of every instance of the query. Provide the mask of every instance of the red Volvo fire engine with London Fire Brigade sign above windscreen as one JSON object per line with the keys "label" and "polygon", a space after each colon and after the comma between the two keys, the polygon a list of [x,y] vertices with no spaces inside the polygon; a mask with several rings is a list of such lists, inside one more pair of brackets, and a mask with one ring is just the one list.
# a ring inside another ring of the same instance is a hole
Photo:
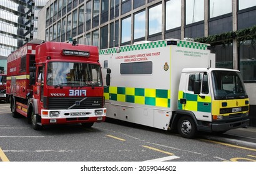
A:
{"label": "red Volvo fire engine with London Fire Brigade sign above windscreen", "polygon": [[33,129],[75,123],[91,127],[105,121],[103,91],[95,46],[32,40],[7,58],[12,116],[27,117]]}

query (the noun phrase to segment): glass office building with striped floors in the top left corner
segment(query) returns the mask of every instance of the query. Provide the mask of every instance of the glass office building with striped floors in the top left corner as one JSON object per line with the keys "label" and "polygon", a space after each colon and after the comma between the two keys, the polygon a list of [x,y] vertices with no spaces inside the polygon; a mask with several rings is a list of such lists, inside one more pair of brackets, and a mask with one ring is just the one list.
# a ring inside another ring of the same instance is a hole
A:
{"label": "glass office building with striped floors in the top left corner", "polygon": [[24,43],[36,38],[37,14],[47,1],[0,1],[0,57],[7,57]]}

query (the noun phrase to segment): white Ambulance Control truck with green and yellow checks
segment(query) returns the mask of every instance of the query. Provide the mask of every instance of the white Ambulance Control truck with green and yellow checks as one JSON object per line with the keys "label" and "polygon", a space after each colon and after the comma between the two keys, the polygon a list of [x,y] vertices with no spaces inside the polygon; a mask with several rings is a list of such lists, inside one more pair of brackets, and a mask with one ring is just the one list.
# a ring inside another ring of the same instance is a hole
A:
{"label": "white Ambulance Control truck with green and yellow checks", "polygon": [[185,138],[249,125],[249,97],[240,71],[215,68],[208,44],[138,43],[99,50],[99,60],[102,68],[111,69],[111,85],[104,89],[107,117],[177,129]]}

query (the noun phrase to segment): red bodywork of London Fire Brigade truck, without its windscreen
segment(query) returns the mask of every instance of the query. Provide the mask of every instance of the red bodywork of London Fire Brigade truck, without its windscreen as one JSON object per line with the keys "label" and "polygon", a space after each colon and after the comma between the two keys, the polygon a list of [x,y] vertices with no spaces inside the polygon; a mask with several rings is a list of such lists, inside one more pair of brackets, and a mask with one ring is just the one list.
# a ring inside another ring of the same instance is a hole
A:
{"label": "red bodywork of London Fire Brigade truck, without its windscreen", "polygon": [[[39,67],[44,65],[47,68],[48,63],[52,62],[100,66],[99,51],[94,46],[63,42],[30,42],[16,50],[7,58],[6,94],[11,101],[12,113],[18,112],[28,118],[31,112],[32,115],[37,114],[41,118],[41,125],[105,121],[103,85],[93,88],[68,85],[56,87],[46,85],[47,81],[44,81],[44,85],[37,82],[30,84],[32,78],[36,80]],[[46,74],[45,71],[45,80]],[[80,105],[83,102],[86,106]],[[101,116],[96,114],[97,109],[102,109]],[[59,117],[51,117],[51,112],[58,112]]]}

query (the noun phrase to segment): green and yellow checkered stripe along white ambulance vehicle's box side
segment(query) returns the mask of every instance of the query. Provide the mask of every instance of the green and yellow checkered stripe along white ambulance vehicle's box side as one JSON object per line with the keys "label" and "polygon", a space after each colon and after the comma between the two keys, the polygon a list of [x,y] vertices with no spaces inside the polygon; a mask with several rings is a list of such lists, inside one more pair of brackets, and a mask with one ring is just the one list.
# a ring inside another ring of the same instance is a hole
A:
{"label": "green and yellow checkered stripe along white ambulance vehicle's box side", "polygon": [[170,90],[109,86],[105,99],[150,106],[170,107]]}

